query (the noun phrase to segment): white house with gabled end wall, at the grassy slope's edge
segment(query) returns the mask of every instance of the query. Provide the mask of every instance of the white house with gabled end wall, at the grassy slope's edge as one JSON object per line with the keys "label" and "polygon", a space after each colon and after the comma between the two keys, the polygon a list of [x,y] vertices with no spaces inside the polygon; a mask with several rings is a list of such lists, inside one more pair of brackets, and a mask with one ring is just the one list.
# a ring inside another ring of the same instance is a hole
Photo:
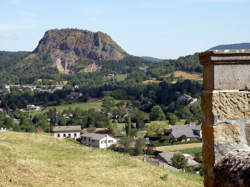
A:
{"label": "white house with gabled end wall, at the grassy slope's edge", "polygon": [[86,133],[81,136],[81,143],[105,149],[113,144],[116,144],[117,140],[108,134]]}

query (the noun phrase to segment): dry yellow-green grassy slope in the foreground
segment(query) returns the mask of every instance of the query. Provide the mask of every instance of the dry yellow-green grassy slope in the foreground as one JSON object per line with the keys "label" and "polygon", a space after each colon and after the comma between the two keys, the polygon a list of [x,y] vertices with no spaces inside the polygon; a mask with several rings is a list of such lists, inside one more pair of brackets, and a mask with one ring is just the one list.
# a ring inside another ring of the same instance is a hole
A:
{"label": "dry yellow-green grassy slope in the foreground", "polygon": [[45,134],[0,133],[0,186],[198,187],[202,178]]}

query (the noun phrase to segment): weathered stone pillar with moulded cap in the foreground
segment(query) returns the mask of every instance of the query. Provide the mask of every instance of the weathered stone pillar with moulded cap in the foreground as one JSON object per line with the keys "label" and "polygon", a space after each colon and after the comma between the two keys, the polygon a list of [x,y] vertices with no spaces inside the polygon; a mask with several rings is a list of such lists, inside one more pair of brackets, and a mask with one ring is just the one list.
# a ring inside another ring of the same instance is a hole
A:
{"label": "weathered stone pillar with moulded cap in the foreground", "polygon": [[[207,51],[200,54],[200,63],[204,184],[250,186],[250,176],[246,180],[240,173],[250,171],[250,50]],[[235,171],[233,163],[239,165],[243,158],[248,158],[243,164],[248,168]]]}

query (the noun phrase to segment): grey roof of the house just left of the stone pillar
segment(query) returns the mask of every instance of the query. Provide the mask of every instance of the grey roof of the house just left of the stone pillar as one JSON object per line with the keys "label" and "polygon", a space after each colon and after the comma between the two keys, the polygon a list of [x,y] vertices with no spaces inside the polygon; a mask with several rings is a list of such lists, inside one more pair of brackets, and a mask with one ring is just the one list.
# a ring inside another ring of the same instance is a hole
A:
{"label": "grey roof of the house just left of the stone pillar", "polygon": [[199,138],[199,136],[195,134],[194,131],[201,130],[201,126],[200,125],[170,125],[169,129],[172,129],[170,136],[173,138],[179,138],[183,135],[188,138]]}

